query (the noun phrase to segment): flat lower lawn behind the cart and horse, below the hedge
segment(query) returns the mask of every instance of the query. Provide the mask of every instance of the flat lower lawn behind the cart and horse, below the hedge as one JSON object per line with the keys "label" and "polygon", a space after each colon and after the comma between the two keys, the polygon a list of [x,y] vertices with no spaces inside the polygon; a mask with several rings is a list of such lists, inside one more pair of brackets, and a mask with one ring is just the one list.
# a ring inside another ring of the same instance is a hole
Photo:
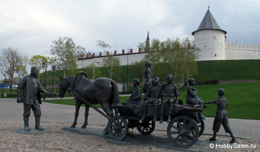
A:
{"label": "flat lower lawn behind the cart and horse, below the hedge", "polygon": [[[226,111],[229,118],[238,119],[253,119],[260,120],[260,98],[259,94],[259,82],[252,83],[221,83],[214,85],[197,85],[194,86],[198,97],[204,102],[213,101],[218,98],[218,89],[223,88],[225,90],[224,97],[227,99],[229,106]],[[183,90],[179,88],[180,99],[183,103],[186,103],[187,86],[183,87]],[[119,97],[120,103],[124,102],[129,97]],[[74,99],[68,100],[46,100],[45,102],[74,105]],[[81,105],[84,106],[84,105]],[[97,108],[101,108],[100,105],[95,105]],[[207,104],[207,108],[203,110],[203,114],[206,117],[215,117],[217,105]]]}

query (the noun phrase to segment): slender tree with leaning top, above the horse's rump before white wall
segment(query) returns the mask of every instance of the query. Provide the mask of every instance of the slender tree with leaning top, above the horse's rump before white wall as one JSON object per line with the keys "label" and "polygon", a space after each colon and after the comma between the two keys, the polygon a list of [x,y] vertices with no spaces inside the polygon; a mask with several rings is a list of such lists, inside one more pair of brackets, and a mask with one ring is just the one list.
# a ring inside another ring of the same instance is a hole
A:
{"label": "slender tree with leaning top, above the horse's rump before white wall", "polygon": [[112,52],[106,51],[107,48],[112,48],[109,44],[105,43],[104,40],[100,39],[96,41],[96,46],[101,47],[104,51],[104,54],[106,54],[105,57],[103,57],[103,62],[100,63],[100,65],[102,67],[106,67],[107,68],[107,72],[109,75],[109,78],[112,79],[112,77],[116,77],[116,74],[121,73],[121,62],[120,62],[120,58],[114,56],[114,54],[112,54]]}

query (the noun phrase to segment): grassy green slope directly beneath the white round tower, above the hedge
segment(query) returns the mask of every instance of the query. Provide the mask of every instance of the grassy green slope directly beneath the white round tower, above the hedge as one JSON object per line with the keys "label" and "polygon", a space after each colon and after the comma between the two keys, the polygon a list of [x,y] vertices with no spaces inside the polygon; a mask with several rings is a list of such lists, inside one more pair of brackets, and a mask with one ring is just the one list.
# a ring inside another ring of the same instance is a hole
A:
{"label": "grassy green slope directly beneath the white round tower, above the hedge", "polygon": [[260,60],[198,61],[196,80],[260,80]]}

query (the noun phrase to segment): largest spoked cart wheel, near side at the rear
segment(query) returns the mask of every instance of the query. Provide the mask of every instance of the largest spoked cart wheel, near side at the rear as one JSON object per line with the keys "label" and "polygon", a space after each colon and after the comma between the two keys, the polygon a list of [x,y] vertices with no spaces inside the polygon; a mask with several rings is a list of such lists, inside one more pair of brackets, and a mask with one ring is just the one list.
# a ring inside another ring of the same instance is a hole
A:
{"label": "largest spoked cart wheel, near side at the rear", "polygon": [[[177,116],[168,124],[167,136],[174,146],[189,148],[193,146],[199,138],[198,125],[190,117]],[[191,139],[188,139],[188,137]]]}

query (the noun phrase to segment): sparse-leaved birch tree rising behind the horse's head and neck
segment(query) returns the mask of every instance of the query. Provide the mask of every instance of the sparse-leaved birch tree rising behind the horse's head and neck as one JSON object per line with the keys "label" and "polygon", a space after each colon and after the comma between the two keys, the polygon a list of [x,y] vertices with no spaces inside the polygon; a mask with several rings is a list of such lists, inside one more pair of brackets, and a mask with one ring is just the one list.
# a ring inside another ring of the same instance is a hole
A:
{"label": "sparse-leaved birch tree rising behind the horse's head and neck", "polygon": [[86,50],[80,45],[76,45],[72,38],[59,37],[56,41],[52,41],[53,45],[50,46],[51,55],[54,56],[54,64],[57,70],[61,70],[64,73],[66,70],[71,70],[73,75],[77,72],[77,63],[75,57],[79,54],[85,54]]}

